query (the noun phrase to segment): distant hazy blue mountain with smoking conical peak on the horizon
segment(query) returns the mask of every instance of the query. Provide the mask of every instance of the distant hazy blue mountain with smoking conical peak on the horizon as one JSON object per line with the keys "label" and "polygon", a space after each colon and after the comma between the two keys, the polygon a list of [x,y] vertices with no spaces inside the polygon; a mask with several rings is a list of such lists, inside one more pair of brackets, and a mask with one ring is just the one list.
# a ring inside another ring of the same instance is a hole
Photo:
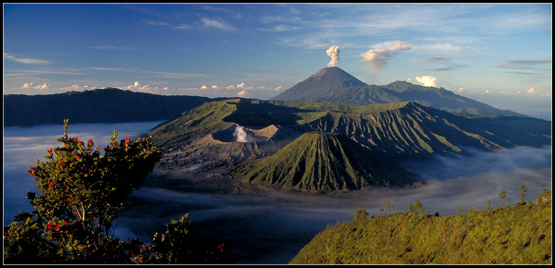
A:
{"label": "distant hazy blue mountain with smoking conical peak on the horizon", "polygon": [[404,81],[388,85],[367,85],[338,67],[323,68],[316,74],[274,97],[274,101],[341,101],[359,104],[415,101],[439,110],[467,117],[517,116],[511,110],[499,110],[455,94],[445,88],[424,87]]}

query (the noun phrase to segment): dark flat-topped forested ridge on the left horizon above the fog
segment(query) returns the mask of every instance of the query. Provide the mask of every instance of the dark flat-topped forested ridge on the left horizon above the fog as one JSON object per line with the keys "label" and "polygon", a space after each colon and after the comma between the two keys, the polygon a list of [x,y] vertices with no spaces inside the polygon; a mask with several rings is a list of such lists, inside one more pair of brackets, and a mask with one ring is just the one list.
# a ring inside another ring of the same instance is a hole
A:
{"label": "dark flat-topped forested ridge on the left horizon above the fog", "polygon": [[[221,98],[223,99],[223,98]],[[149,122],[172,119],[207,101],[198,96],[164,96],[117,88],[59,94],[3,96],[4,126]]]}

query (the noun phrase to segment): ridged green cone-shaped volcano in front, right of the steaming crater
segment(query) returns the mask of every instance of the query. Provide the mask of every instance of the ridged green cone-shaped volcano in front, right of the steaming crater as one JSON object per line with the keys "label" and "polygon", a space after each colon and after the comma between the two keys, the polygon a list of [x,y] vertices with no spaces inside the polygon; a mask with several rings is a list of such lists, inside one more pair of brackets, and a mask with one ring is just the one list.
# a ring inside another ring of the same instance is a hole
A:
{"label": "ridged green cone-shaped volcano in front, right of the steaming crater", "polygon": [[301,192],[413,183],[411,174],[402,167],[379,158],[345,135],[332,133],[305,133],[273,156],[238,165],[232,174],[242,183]]}

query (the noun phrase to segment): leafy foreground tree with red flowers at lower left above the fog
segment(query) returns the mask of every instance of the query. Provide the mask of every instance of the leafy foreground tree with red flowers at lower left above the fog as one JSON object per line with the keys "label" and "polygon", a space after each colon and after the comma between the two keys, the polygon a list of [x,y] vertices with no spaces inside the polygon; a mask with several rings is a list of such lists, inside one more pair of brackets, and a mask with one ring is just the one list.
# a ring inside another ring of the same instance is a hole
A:
{"label": "leafy foreground tree with red flowers at lower left above the fog", "polygon": [[127,196],[153,171],[162,151],[150,137],[118,142],[114,131],[101,155],[92,140],[69,137],[68,123],[65,120],[64,135],[58,138],[62,146],[48,149],[46,160],[37,159],[27,170],[40,194],[28,192],[34,211],[19,212],[4,228],[4,261],[137,262],[133,253],[140,253],[143,243],[112,237],[112,221],[126,208]]}

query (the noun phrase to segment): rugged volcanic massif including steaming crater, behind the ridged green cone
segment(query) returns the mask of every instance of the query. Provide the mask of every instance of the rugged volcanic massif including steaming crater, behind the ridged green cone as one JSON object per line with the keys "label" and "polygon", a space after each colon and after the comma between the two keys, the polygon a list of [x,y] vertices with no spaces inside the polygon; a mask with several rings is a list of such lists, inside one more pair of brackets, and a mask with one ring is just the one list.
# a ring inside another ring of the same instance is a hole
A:
{"label": "rugged volcanic massif including steaming crater, behind the ridged green cone", "polygon": [[[525,117],[470,119],[414,102],[359,105],[234,99],[205,103],[161,124],[150,135],[168,166],[223,160],[235,165],[269,156],[302,133],[346,135],[390,156],[460,153],[551,144],[550,122]],[[513,120],[518,119],[518,120]],[[533,121],[533,122],[529,122]],[[533,128],[527,127],[533,123]],[[234,134],[245,132],[244,140]]]}

